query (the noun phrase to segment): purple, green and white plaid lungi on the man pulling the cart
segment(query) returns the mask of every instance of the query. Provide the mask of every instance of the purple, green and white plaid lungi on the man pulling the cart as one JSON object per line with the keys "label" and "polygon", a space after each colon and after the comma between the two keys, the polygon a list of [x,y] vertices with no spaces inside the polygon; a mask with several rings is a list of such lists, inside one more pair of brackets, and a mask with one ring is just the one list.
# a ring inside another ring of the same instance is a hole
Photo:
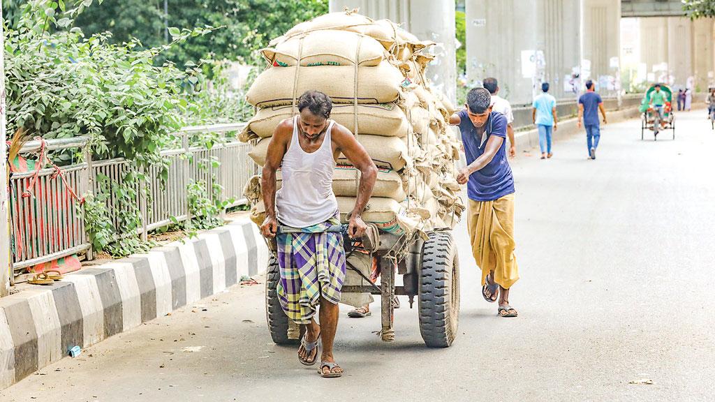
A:
{"label": "purple, green and white plaid lungi on the man pulling the cart", "polygon": [[340,301],[345,280],[345,250],[342,233],[325,232],[332,225],[340,225],[340,220],[332,217],[303,227],[301,233],[277,235],[278,300],[295,323],[310,323],[321,295],[333,304]]}

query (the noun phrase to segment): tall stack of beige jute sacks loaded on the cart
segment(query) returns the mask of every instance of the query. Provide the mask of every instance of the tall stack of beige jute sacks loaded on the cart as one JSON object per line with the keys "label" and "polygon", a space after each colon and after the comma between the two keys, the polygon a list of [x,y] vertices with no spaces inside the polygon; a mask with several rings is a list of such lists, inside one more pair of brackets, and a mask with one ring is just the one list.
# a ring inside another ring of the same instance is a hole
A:
{"label": "tall stack of beige jute sacks loaded on the cart", "polygon": [[[448,127],[452,104],[425,80],[433,44],[355,11],[297,24],[262,49],[270,66],[246,95],[257,109],[239,139],[254,144],[250,157],[264,165],[275,127],[297,114],[297,97],[307,90],[324,92],[333,102],[330,118],[350,129],[378,166],[363,220],[398,235],[451,228],[465,208],[454,172],[459,145]],[[341,155],[333,190],[343,222],[355,203],[359,177]],[[260,225],[265,217],[260,177],[250,180],[246,195]]]}

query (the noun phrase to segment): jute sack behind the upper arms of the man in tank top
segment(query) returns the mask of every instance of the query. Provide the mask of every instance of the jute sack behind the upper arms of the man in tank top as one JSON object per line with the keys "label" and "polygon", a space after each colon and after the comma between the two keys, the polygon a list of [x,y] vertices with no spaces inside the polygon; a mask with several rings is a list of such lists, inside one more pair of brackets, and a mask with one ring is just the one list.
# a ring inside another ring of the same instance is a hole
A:
{"label": "jute sack behind the upper arms of the man in tank top", "polygon": [[[411,163],[407,143],[398,137],[380,137],[377,135],[359,135],[358,141],[363,144],[368,155],[373,159],[375,165],[385,169],[400,171]],[[263,166],[266,162],[266,152],[270,138],[261,139],[253,149],[248,152],[248,156],[256,162],[256,165]],[[337,159],[338,165],[352,166],[350,160],[345,155],[340,155]]]}

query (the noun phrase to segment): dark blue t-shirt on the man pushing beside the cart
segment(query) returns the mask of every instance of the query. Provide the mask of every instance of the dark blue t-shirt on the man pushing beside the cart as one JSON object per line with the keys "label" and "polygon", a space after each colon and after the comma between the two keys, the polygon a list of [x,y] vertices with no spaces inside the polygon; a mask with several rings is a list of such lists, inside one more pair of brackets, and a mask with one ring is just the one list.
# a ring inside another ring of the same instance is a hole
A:
{"label": "dark blue t-shirt on the man pushing beside the cart", "polygon": [[[491,112],[486,122],[486,139],[481,143],[481,136],[477,136],[477,129],[469,119],[466,110],[457,113],[461,119],[459,130],[462,133],[464,153],[467,164],[474,162],[484,153],[489,137],[506,138],[506,117],[499,112]],[[505,195],[513,194],[514,177],[511,167],[506,159],[506,140],[494,155],[494,158],[485,167],[472,173],[467,182],[467,196],[474,201],[493,201]]]}

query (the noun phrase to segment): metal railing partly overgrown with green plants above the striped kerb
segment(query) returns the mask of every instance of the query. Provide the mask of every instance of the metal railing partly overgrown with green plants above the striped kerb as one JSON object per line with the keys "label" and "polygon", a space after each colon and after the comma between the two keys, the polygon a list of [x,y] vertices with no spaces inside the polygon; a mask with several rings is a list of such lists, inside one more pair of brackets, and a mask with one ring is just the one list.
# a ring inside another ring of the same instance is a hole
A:
{"label": "metal railing partly overgrown with green plants above the striped kerb", "polygon": [[[118,183],[130,171],[128,162],[121,158],[93,161],[87,149],[87,138],[49,139],[44,142],[47,151],[84,149],[85,162],[61,167],[61,175],[54,168],[39,172],[15,172],[10,179],[10,208],[13,230],[13,267],[15,275],[26,268],[46,263],[68,255],[87,253],[92,258],[84,222],[84,213],[71,195],[70,188],[79,196],[89,190],[107,194],[107,208],[112,225],[119,235],[142,235],[149,230],[165,227],[190,219],[187,186],[198,182],[205,194],[213,198],[212,186],[222,186],[221,197],[234,200],[226,207],[247,203],[243,197],[245,183],[255,175],[256,168],[248,157],[250,144],[229,141],[216,144],[211,149],[189,147],[189,134],[197,132],[240,131],[245,123],[217,124],[213,126],[184,127],[177,133],[182,137],[182,147],[166,149],[161,156],[168,163],[168,175],[159,177],[160,167],[149,167],[146,182],[138,184],[134,192],[119,191]],[[43,144],[26,143],[21,155],[36,152]],[[217,164],[213,162],[219,162]],[[31,184],[32,177],[36,176]],[[66,182],[66,184],[65,184]],[[146,186],[142,188],[142,186]],[[108,192],[107,192],[108,190]],[[116,191],[115,191],[116,190]],[[127,202],[139,207],[142,225],[136,230],[122,227],[120,212],[130,212]],[[127,200],[128,198],[128,200]]]}

